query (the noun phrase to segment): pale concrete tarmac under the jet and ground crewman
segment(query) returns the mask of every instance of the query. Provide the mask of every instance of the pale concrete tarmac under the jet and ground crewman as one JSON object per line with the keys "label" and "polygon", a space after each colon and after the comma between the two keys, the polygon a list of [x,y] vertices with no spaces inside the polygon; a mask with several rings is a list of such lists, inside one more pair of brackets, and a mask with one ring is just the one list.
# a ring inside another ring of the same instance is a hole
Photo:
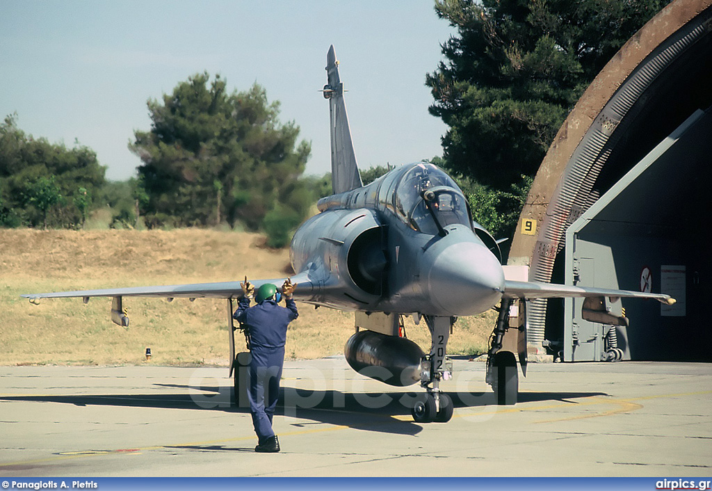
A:
{"label": "pale concrete tarmac under the jet and ground crewman", "polygon": [[710,476],[712,365],[530,364],[495,405],[484,363],[454,361],[449,423],[414,423],[418,386],[343,358],[286,363],[257,454],[226,368],[0,367],[0,476]]}

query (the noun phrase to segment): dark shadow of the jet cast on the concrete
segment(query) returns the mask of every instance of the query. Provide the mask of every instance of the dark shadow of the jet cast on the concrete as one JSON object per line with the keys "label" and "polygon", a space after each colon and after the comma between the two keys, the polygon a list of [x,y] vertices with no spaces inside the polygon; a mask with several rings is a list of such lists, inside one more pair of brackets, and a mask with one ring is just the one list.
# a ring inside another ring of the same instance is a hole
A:
{"label": "dark shadow of the jet cast on the concrete", "polygon": [[[155,384],[155,386],[176,388],[182,392],[171,394],[0,396],[0,401],[249,412],[248,408],[236,408],[231,404],[233,397],[230,387],[198,387],[176,384]],[[313,422],[293,423],[296,428],[309,428],[310,425],[325,423],[379,433],[417,435],[422,430],[422,425],[410,420],[410,408],[415,398],[422,393],[422,391],[344,393],[340,391],[306,391],[287,387],[281,388],[277,414]],[[448,393],[455,408],[476,409],[473,411],[474,415],[477,415],[478,411],[480,414],[492,414],[498,412],[500,408],[515,407],[496,405],[493,393]],[[606,395],[600,392],[523,392],[519,394],[518,402],[533,403],[557,400],[575,403],[572,399]]]}

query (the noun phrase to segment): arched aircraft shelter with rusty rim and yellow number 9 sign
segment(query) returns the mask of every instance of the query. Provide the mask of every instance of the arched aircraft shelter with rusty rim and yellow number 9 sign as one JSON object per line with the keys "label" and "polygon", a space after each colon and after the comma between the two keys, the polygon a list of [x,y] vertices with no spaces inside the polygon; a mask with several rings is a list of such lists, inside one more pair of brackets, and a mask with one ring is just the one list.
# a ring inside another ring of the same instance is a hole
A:
{"label": "arched aircraft shelter with rusty rim and yellow number 9 sign", "polygon": [[[528,351],[562,361],[712,361],[712,0],[671,2],[604,67],[560,128],[520,215],[508,264],[529,279],[664,291],[626,321],[582,299],[528,306]],[[612,351],[616,348],[616,351]],[[616,356],[615,353],[618,353]]]}

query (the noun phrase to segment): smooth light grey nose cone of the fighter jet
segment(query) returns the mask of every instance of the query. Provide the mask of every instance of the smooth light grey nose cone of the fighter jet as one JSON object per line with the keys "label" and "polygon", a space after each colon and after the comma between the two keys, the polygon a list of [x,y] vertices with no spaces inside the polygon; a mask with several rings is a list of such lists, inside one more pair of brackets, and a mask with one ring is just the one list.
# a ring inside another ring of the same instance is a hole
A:
{"label": "smooth light grey nose cone of the fighter jet", "polygon": [[428,275],[431,299],[451,316],[491,309],[504,290],[501,264],[486,247],[458,242],[443,249]]}

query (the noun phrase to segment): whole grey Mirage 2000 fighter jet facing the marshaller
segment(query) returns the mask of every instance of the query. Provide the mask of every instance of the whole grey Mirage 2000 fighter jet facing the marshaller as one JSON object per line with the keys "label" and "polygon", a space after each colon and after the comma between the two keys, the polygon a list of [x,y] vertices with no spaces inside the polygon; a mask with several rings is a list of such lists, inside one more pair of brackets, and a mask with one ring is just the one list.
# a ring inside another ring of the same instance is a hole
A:
{"label": "whole grey Mirage 2000 fighter jet facing the marshaller", "polygon": [[[290,250],[296,272],[291,277],[297,284],[294,298],[355,311],[357,332],[345,346],[348,363],[356,371],[394,386],[421,383],[426,392],[412,408],[416,421],[452,417],[452,400],[441,391],[440,383],[451,376],[446,346],[459,316],[498,306],[487,379],[498,393],[499,403],[513,403],[518,391],[515,353],[524,371],[526,350],[525,323],[519,320],[513,324],[510,314],[516,310],[513,318],[521,319],[525,299],[590,297],[584,309],[606,324],[624,319],[612,314],[612,305],[620,297],[674,302],[664,294],[507,279],[493,253],[498,250],[496,241],[473,222],[468,201],[454,180],[431,163],[402,165],[362,185],[333,46],[326,71],[323,95],[330,105],[334,194],[319,200],[319,213],[294,234]],[[281,284],[279,279],[250,281],[256,287]],[[240,281],[228,281],[23,296],[33,303],[41,298],[82,297],[86,302],[93,296],[109,296],[112,321],[122,326],[128,325],[123,297],[228,299],[232,326],[233,300],[241,294]],[[512,308],[515,306],[518,309]],[[431,334],[429,353],[402,337],[399,323],[408,315],[414,316],[417,324],[424,319]],[[508,338],[513,343],[508,343]],[[234,327],[229,341],[230,370],[237,384]]]}

